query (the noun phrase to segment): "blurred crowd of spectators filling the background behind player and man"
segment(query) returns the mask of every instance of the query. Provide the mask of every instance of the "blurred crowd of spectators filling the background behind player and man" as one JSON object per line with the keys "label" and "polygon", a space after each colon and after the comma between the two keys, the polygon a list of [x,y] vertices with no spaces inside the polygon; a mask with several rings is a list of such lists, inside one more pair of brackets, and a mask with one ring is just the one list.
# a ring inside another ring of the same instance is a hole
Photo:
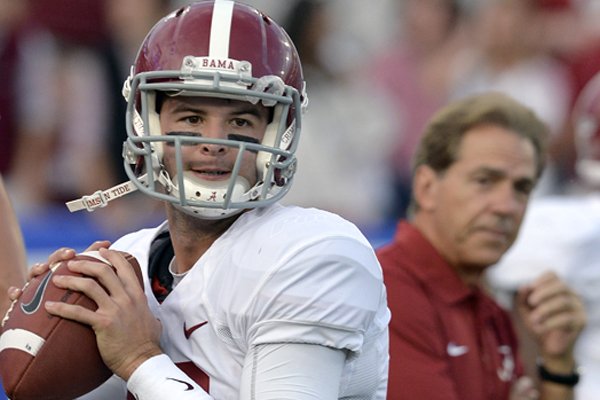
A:
{"label": "blurred crowd of spectators filling the background behind player and man", "polygon": [[[550,126],[537,195],[574,190],[569,115],[600,70],[599,1],[247,3],[282,23],[305,67],[309,111],[286,203],[366,229],[396,220],[425,121],[449,99],[484,90],[513,95]],[[182,4],[0,0],[0,173],[19,215],[126,180],[121,86],[143,35]],[[132,195],[95,214],[119,234],[160,217],[160,207]]]}

